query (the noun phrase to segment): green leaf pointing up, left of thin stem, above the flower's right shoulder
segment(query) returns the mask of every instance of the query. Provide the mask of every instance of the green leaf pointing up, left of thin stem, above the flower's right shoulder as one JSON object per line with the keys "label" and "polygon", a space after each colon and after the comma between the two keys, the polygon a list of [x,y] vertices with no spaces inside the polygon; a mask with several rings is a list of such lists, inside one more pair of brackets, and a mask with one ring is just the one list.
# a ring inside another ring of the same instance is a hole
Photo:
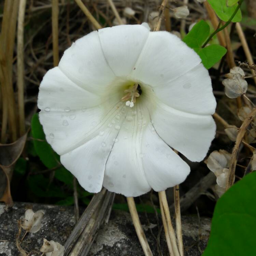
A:
{"label": "green leaf pointing up, left of thin stem, above the flower's right shoulder", "polygon": [[198,52],[204,41],[208,38],[209,32],[210,26],[204,20],[200,20],[183,38],[183,42]]}

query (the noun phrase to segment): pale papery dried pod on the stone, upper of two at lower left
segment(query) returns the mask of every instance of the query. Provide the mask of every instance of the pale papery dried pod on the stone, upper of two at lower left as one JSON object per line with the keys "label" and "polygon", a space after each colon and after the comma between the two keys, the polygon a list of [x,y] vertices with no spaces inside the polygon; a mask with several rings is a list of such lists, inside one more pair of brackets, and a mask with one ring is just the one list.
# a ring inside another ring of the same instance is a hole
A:
{"label": "pale papery dried pod on the stone, upper of two at lower left", "polygon": [[31,209],[26,210],[22,228],[25,229],[26,232],[36,233],[41,228],[43,216],[43,210],[39,210],[35,213]]}

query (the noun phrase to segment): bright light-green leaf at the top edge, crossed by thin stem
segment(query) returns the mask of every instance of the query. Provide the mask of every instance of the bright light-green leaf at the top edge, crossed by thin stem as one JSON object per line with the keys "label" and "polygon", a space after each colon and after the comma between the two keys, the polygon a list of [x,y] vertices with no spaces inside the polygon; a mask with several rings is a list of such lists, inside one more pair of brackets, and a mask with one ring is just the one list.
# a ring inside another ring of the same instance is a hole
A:
{"label": "bright light-green leaf at the top edge, crossed by thin stem", "polygon": [[[212,9],[216,12],[218,17],[221,20],[227,22],[234,11],[236,10],[238,4],[228,7],[226,0],[208,0],[209,4],[212,6]],[[239,9],[236,15],[232,18],[232,22],[240,22],[242,19],[241,10]]]}

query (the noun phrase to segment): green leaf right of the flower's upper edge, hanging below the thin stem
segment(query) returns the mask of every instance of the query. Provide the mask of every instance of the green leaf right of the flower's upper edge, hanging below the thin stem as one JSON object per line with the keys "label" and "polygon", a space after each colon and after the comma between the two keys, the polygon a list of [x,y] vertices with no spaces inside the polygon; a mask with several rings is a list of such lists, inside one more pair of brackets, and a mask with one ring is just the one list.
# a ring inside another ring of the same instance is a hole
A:
{"label": "green leaf right of the flower's upper edge, hanging below the thin stem", "polygon": [[197,54],[200,56],[203,66],[206,69],[209,69],[218,61],[220,61],[226,52],[227,49],[225,47],[218,44],[211,44],[200,49]]}

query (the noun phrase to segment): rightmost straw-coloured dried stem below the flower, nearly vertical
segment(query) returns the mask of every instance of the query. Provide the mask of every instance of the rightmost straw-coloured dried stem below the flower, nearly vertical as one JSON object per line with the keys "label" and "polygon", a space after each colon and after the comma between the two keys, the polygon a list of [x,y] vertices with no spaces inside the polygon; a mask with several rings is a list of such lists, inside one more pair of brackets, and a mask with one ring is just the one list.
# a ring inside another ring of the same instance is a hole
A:
{"label": "rightmost straw-coloured dried stem below the flower, nearly vertical", "polygon": [[173,187],[174,205],[175,205],[175,221],[176,221],[176,234],[180,255],[184,256],[183,240],[182,240],[182,227],[181,227],[181,208],[180,208],[180,188],[179,185]]}

